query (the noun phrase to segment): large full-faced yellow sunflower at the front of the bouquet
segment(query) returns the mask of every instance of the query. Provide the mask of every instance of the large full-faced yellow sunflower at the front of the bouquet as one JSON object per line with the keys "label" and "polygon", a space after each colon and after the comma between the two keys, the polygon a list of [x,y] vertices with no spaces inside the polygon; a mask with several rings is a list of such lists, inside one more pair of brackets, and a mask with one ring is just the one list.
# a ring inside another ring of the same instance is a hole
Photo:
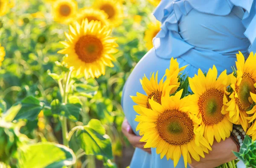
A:
{"label": "large full-faced yellow sunflower at the front of the bouquet", "polygon": [[167,160],[174,160],[174,166],[182,154],[186,167],[187,162],[191,163],[190,156],[199,161],[199,156],[204,157],[211,147],[202,136],[200,119],[189,111],[189,97],[180,99],[182,92],[163,96],[161,104],[149,99],[151,109],[141,106],[143,115],[137,115],[136,120],[145,132],[140,140],[146,142],[144,148],[157,148],[161,159],[166,155]]}

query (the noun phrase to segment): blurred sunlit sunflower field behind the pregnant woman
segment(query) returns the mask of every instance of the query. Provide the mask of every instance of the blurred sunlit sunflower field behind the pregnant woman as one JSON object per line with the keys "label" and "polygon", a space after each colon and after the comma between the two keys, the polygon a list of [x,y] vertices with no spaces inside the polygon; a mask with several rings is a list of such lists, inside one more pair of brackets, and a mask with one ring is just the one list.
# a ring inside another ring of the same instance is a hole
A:
{"label": "blurred sunlit sunflower field behind the pregnant woman", "polygon": [[160,0],[0,0],[0,167],[125,168],[122,87]]}

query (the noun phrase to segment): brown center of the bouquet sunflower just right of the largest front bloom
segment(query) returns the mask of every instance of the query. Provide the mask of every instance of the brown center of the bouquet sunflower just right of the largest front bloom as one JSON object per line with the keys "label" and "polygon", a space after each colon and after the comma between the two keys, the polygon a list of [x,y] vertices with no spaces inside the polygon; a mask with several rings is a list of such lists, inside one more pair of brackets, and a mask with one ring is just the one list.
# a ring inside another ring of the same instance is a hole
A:
{"label": "brown center of the bouquet sunflower just right of the largest front bloom", "polygon": [[224,92],[215,88],[206,90],[200,96],[198,101],[199,111],[206,125],[214,125],[223,120],[224,115],[221,113],[223,96]]}

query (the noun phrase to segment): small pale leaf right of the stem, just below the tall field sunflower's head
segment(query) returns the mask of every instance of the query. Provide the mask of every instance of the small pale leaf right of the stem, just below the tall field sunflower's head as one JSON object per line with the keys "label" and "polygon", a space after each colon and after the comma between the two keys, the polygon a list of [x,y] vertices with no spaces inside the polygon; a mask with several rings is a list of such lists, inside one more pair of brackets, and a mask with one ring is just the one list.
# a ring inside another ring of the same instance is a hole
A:
{"label": "small pale leaf right of the stem, just below the tall field sunflower's head", "polygon": [[93,98],[99,89],[99,86],[91,86],[89,84],[74,84],[76,95]]}

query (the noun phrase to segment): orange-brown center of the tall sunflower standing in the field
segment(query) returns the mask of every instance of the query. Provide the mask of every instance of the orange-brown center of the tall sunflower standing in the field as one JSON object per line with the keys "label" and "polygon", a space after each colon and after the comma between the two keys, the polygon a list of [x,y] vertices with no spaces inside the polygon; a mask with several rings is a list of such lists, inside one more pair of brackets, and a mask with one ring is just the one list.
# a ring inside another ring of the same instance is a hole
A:
{"label": "orange-brown center of the tall sunflower standing in the field", "polygon": [[96,36],[85,35],[76,42],[75,51],[79,59],[85,63],[91,63],[102,56],[103,45]]}

